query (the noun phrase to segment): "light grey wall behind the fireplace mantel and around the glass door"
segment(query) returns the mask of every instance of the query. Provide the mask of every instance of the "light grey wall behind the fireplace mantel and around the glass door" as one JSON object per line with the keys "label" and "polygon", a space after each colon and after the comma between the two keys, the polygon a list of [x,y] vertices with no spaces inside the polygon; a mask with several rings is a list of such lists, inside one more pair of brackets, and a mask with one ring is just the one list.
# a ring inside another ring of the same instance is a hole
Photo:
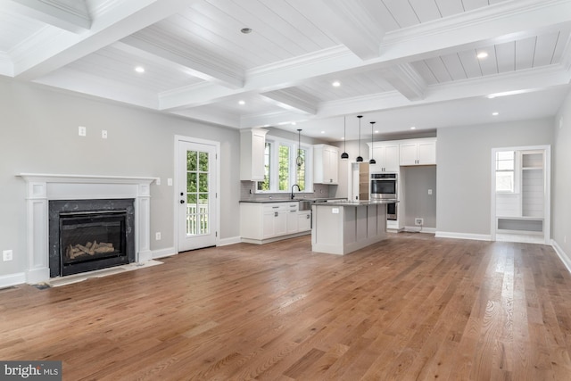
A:
{"label": "light grey wall behind the fireplace mantel and around the glass door", "polygon": [[[0,278],[26,269],[25,183],[22,172],[161,178],[151,189],[151,250],[174,247],[174,136],[220,144],[221,239],[239,236],[239,133],[120,104],[0,78]],[[87,127],[79,137],[78,127]],[[101,130],[108,138],[101,138]],[[161,241],[154,232],[161,232]],[[2,279],[0,279],[1,282]]]}

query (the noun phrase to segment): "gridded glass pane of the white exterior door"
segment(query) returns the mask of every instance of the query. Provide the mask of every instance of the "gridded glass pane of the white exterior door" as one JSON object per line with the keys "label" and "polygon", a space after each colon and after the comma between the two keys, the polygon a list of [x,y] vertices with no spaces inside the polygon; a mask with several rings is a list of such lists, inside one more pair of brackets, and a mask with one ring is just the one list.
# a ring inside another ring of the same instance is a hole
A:
{"label": "gridded glass pane of the white exterior door", "polygon": [[186,152],[186,236],[210,234],[209,153]]}

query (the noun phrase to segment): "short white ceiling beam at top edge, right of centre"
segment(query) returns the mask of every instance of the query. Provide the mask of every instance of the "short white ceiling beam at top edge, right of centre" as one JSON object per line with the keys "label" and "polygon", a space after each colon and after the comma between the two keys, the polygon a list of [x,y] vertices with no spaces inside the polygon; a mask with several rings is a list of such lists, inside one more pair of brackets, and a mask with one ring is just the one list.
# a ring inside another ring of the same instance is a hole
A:
{"label": "short white ceiling beam at top edge, right of centre", "polygon": [[368,12],[370,0],[290,0],[310,21],[333,34],[361,60],[378,57],[385,29]]}

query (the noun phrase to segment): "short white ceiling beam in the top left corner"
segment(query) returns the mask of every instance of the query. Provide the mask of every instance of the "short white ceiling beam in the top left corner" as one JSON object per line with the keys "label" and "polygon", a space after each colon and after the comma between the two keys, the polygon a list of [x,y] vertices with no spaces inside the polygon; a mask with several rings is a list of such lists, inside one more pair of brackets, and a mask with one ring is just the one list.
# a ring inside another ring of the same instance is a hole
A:
{"label": "short white ceiling beam in the top left corner", "polygon": [[85,1],[12,0],[12,9],[54,27],[81,33],[91,28],[91,16]]}

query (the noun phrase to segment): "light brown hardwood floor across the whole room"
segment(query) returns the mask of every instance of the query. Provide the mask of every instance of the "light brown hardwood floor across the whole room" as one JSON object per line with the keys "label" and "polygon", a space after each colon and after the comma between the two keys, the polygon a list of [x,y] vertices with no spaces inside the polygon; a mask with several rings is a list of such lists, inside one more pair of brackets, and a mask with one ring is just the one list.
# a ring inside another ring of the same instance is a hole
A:
{"label": "light brown hardwood floor across the whole room", "polygon": [[234,244],[0,291],[0,360],[64,380],[568,380],[571,277],[550,246],[391,235]]}

